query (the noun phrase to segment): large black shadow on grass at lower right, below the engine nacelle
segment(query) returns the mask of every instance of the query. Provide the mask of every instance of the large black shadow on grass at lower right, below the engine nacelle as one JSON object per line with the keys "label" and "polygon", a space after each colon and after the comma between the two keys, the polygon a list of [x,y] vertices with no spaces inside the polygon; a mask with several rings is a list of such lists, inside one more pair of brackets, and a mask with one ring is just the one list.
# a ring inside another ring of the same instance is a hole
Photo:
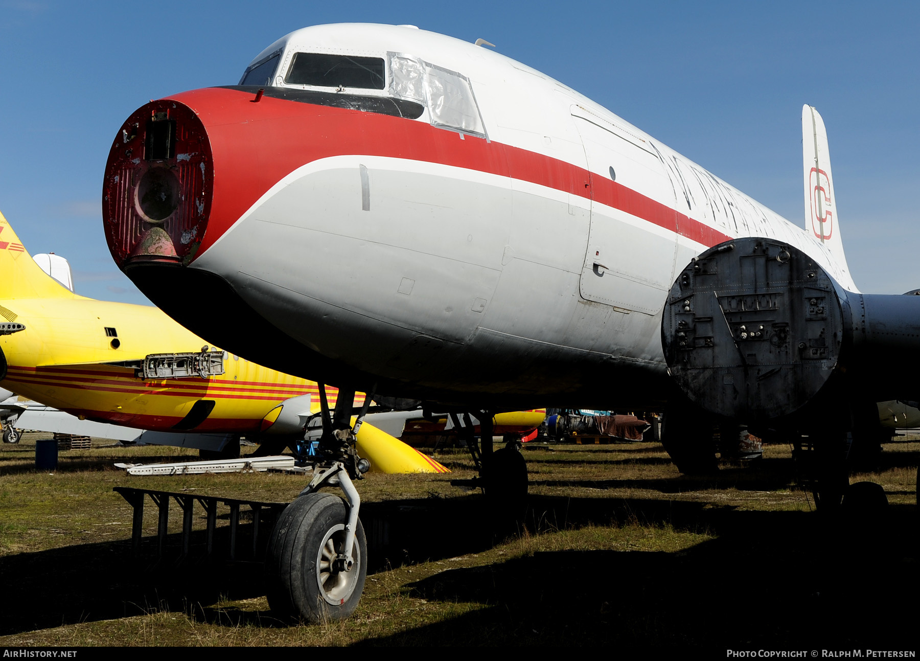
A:
{"label": "large black shadow on grass at lower right, below the engine nacelle", "polygon": [[[475,636],[487,645],[617,649],[915,649],[913,505],[834,522],[814,512],[621,504],[650,526],[705,527],[713,537],[673,553],[549,551],[449,569],[408,584],[409,596],[475,609],[361,644],[462,645]],[[569,515],[591,505],[572,499]]]}

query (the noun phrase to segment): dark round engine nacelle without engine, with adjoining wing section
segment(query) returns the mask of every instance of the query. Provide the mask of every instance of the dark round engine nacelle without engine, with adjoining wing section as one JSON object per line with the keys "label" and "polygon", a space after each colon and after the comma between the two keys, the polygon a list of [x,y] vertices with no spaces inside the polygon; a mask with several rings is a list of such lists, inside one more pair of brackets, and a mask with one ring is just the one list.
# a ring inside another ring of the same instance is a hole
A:
{"label": "dark round engine nacelle without engine, with adjoining wing section", "polygon": [[708,412],[820,417],[840,403],[914,399],[905,359],[920,351],[920,298],[849,292],[799,249],[736,238],[677,277],[661,343],[676,383]]}

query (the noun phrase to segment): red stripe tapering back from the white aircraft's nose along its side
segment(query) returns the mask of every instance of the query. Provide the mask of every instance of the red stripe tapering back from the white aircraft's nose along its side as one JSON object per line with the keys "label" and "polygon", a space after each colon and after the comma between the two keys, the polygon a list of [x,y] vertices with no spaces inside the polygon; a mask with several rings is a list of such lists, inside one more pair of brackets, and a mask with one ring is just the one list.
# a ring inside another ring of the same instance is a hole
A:
{"label": "red stripe tapering back from the white aircraft's nose along its side", "polygon": [[[713,246],[730,237],[638,191],[592,176],[558,158],[374,112],[314,106],[209,87],[170,100],[186,104],[211,142],[214,193],[201,255],[274,184],[320,158],[362,155],[406,158],[529,181],[593,199]],[[586,185],[588,184],[588,185]]]}

